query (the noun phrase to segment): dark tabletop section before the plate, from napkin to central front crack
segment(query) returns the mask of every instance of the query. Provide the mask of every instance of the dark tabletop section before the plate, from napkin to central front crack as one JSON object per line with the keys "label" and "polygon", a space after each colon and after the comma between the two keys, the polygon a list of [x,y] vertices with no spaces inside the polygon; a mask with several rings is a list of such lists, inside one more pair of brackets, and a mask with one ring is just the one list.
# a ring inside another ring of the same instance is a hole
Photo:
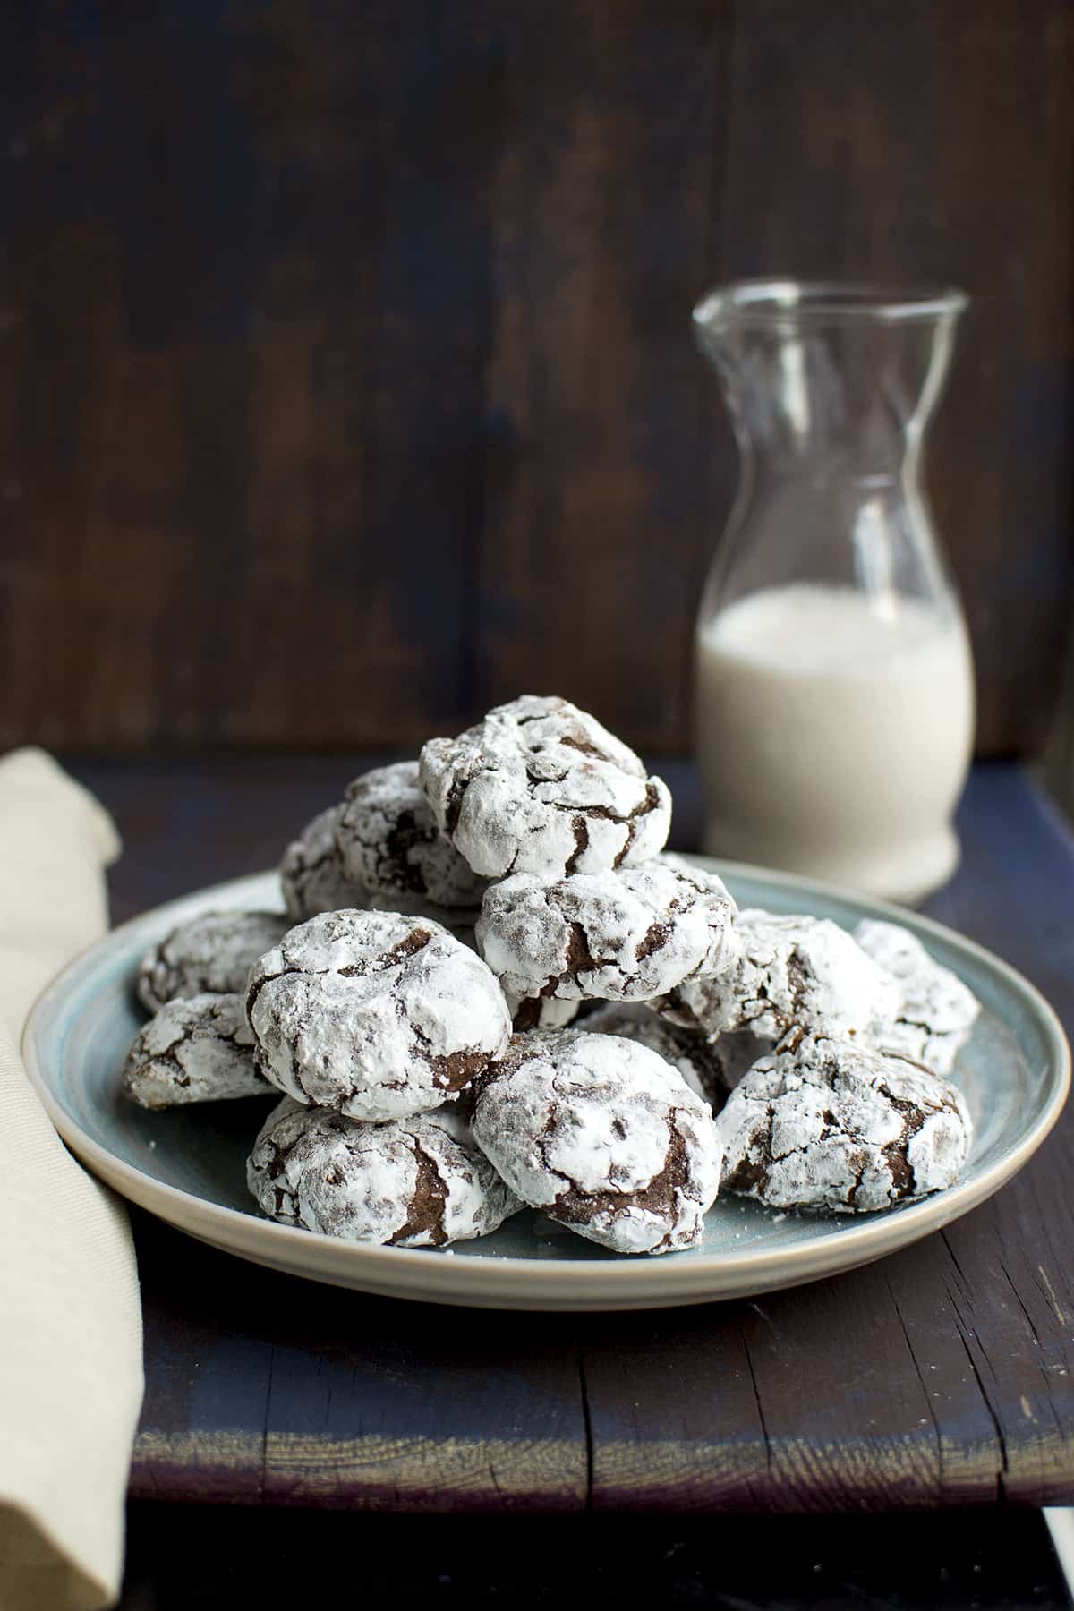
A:
{"label": "dark tabletop section before the plate, from napkin to central front crack", "polygon": [[132,1220],[148,1365],[132,1498],[585,1510],[570,1316],[366,1298]]}

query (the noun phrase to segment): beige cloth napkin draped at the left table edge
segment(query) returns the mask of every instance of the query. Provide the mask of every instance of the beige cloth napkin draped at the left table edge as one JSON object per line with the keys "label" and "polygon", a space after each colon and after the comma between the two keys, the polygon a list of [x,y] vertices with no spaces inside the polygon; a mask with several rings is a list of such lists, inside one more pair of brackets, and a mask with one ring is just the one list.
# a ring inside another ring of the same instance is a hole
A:
{"label": "beige cloth napkin draped at the left table edge", "polygon": [[93,1611],[122,1569],[142,1311],[127,1213],[74,1162],[18,1052],[108,925],[111,818],[40,749],[0,760],[0,1611]]}

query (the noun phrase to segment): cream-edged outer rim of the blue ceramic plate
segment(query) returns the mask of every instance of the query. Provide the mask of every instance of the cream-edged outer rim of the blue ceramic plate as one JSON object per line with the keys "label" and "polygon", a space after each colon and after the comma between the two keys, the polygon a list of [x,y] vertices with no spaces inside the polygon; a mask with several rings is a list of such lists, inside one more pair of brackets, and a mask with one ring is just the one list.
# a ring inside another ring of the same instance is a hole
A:
{"label": "cream-edged outer rim of the blue ceramic plate", "polygon": [[[356,1289],[361,1289],[364,1284],[377,1284],[380,1290],[390,1290],[401,1298],[412,1295],[428,1300],[432,1297],[433,1302],[448,1303],[452,1302],[452,1289],[457,1289],[457,1300],[461,1302],[472,1302],[473,1290],[481,1289],[481,1302],[489,1308],[496,1308],[498,1300],[499,1307],[502,1307],[520,1297],[535,1298],[538,1303],[541,1298],[552,1300],[554,1297],[560,1297],[564,1307],[575,1308],[615,1308],[620,1303],[622,1307],[657,1308],[668,1302],[717,1302],[746,1295],[747,1290],[765,1290],[765,1278],[789,1266],[794,1266],[789,1281],[779,1284],[805,1284],[871,1263],[889,1252],[919,1240],[932,1231],[942,1229],[952,1220],[961,1218],[961,1215],[992,1197],[1037,1152],[1053,1129],[1069,1095],[1071,1049],[1056,1010],[1018,968],[995,955],[985,946],[960,934],[936,918],[890,902],[874,901],[853,889],[844,889],[839,884],[805,878],[797,873],[783,873],[776,868],[755,867],[749,862],[728,862],[720,857],[678,854],[694,865],[718,872],[720,876],[758,880],[789,891],[802,889],[803,894],[815,894],[821,899],[850,905],[860,910],[861,915],[879,917],[886,921],[902,923],[911,928],[911,931],[932,934],[947,946],[953,944],[955,950],[968,952],[987,971],[998,973],[1006,988],[1027,1004],[1048,1049],[1050,1094],[1021,1142],[1003,1152],[981,1174],[966,1181],[956,1181],[942,1192],[898,1208],[897,1213],[887,1211],[858,1220],[847,1218],[845,1221],[836,1218],[836,1224],[829,1218],[821,1218],[818,1224],[824,1224],[829,1229],[823,1239],[815,1242],[795,1249],[757,1249],[755,1244],[750,1244],[750,1247],[742,1250],[725,1250],[720,1253],[699,1252],[684,1260],[636,1260],[615,1255],[607,1260],[594,1258],[586,1261],[554,1257],[517,1258],[510,1255],[504,1255],[502,1258],[467,1258],[465,1252],[461,1252],[457,1258],[448,1260],[440,1249],[341,1242],[298,1226],[279,1224],[274,1220],[258,1218],[253,1213],[224,1207],[211,1199],[159,1181],[156,1176],[119,1158],[84,1131],[52,1089],[42,1060],[39,1060],[37,1042],[47,1033],[52,1013],[63,1004],[72,981],[82,973],[92,957],[106,954],[118,944],[122,944],[129,931],[142,926],[147,918],[159,921],[163,926],[172,917],[179,921],[185,910],[211,909],[214,899],[224,901],[227,907],[242,907],[242,897],[246,889],[251,894],[256,889],[256,904],[262,904],[266,884],[277,878],[272,868],[259,873],[246,873],[240,878],[229,878],[177,896],[161,905],[150,907],[116,925],[116,928],[108,930],[100,939],[79,950],[50,979],[31,1007],[21,1037],[23,1063],[45,1112],[76,1157],[121,1195],[158,1215],[158,1218],[163,1218],[177,1229],[193,1234],[201,1240],[211,1240],[213,1245],[232,1255],[254,1258],[254,1261],[271,1263],[275,1268],[287,1268],[296,1276],[308,1274],[309,1279],[325,1281],[328,1276],[324,1269],[311,1268],[304,1273],[299,1268],[303,1263],[312,1263],[301,1257],[301,1250],[314,1252],[311,1237],[316,1237],[317,1258],[333,1266],[338,1265],[337,1274],[340,1284]],[[159,1208],[156,1207],[158,1202],[161,1203]],[[169,1205],[172,1211],[161,1211],[163,1205]],[[190,1224],[192,1218],[204,1221],[208,1228],[216,1231],[216,1236],[209,1237],[206,1231],[193,1231]],[[256,1244],[264,1239],[269,1239],[271,1249],[279,1249],[279,1261],[274,1261],[269,1252],[266,1252],[264,1258],[259,1258],[250,1249],[250,1242]],[[242,1249],[235,1247],[237,1240],[243,1244]],[[295,1252],[295,1258],[285,1258],[288,1249]],[[757,1286],[752,1281],[744,1284],[747,1271],[757,1276]],[[737,1281],[734,1279],[736,1274]],[[391,1276],[398,1276],[398,1282],[396,1279],[390,1279]],[[364,1278],[367,1278],[366,1282]],[[639,1295],[639,1282],[641,1286],[652,1284],[655,1290]],[[407,1294],[407,1287],[423,1290]],[[568,1287],[580,1290],[562,1290]],[[469,1298],[467,1289],[470,1289]],[[586,1298],[589,1303],[586,1303]],[[535,1307],[538,1305],[535,1303]]]}

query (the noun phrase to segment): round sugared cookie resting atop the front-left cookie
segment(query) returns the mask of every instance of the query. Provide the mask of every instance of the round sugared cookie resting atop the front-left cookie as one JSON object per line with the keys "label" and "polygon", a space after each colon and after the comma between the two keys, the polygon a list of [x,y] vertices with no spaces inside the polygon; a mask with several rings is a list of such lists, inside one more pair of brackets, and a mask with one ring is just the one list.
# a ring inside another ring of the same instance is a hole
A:
{"label": "round sugared cookie resting atop the front-left cookie", "polygon": [[393,1120],[449,1100],[510,1037],[481,959],[428,918],[322,912],[250,971],[266,1078],[298,1102]]}

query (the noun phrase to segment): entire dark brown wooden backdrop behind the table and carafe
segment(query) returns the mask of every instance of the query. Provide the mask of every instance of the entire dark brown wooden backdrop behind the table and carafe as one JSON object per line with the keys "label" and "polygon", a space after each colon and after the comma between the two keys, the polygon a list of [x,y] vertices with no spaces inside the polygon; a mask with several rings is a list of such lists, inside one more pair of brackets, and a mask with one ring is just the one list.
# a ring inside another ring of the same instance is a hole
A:
{"label": "entire dark brown wooden backdrop behind the table and carafe", "polygon": [[356,746],[562,691],[688,744],[734,487],[689,308],[976,296],[931,485],[981,748],[1071,609],[1061,0],[11,3],[0,741]]}

